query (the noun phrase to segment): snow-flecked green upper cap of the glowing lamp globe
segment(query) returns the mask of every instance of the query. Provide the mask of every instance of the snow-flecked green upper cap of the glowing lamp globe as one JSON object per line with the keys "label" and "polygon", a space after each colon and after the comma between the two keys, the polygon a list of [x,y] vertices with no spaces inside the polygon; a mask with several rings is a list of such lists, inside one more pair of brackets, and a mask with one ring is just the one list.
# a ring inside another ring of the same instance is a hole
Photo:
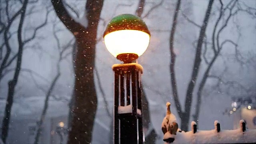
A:
{"label": "snow-flecked green upper cap of the glowing lamp globe", "polygon": [[120,14],[114,17],[109,23],[103,34],[103,37],[118,30],[140,30],[150,35],[146,23],[138,16],[132,14]]}

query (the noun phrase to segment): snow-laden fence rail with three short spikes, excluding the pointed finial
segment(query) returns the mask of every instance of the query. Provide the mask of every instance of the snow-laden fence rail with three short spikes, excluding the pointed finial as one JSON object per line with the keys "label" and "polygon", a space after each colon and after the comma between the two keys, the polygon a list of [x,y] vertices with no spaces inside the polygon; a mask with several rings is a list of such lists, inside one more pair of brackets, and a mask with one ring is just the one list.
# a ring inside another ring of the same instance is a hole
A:
{"label": "snow-laden fence rail with three short spikes, excluding the pointed finial", "polygon": [[214,122],[214,127],[214,130],[197,130],[196,122],[191,122],[191,131],[177,132],[171,144],[256,143],[256,130],[246,129],[244,120],[240,120],[240,128],[237,130],[221,130],[217,120]]}

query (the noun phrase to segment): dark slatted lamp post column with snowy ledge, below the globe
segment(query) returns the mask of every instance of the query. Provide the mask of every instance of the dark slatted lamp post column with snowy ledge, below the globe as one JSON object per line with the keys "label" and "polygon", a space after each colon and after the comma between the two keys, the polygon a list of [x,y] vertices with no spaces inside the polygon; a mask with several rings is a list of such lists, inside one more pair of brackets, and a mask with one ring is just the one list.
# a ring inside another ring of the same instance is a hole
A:
{"label": "dark slatted lamp post column with snowy ledge, below the globe", "polygon": [[114,144],[143,144],[142,66],[114,64]]}

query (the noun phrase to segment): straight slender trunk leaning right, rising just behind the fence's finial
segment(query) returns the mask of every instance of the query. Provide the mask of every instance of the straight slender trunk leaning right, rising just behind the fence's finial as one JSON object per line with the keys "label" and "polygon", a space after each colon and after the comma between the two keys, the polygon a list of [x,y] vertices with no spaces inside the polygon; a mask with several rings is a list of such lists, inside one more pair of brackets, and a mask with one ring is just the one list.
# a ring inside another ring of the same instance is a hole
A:
{"label": "straight slender trunk leaning right, rising just behind the fence's finial", "polygon": [[190,119],[190,110],[191,110],[191,104],[192,104],[192,95],[193,95],[194,87],[196,84],[198,71],[200,69],[202,44],[203,44],[203,40],[204,40],[204,36],[205,36],[206,27],[208,25],[208,20],[209,20],[210,14],[211,14],[213,2],[214,2],[214,0],[209,1],[208,7],[206,10],[206,14],[204,17],[204,22],[200,29],[200,34],[199,34],[197,48],[196,48],[196,56],[195,56],[195,60],[194,60],[194,66],[192,69],[193,70],[192,76],[191,76],[191,80],[188,84],[188,88],[187,88],[187,92],[186,92],[185,112],[184,112],[184,116],[183,116],[182,123],[181,123],[181,129],[185,130],[185,131],[188,130],[188,123],[189,123],[189,119]]}

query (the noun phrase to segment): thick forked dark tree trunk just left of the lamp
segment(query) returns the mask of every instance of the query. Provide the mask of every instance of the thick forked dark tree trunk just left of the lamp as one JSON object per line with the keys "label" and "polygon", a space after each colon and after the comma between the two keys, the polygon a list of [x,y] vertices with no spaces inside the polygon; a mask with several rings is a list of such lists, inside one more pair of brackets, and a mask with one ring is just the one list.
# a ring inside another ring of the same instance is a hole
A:
{"label": "thick forked dark tree trunk just left of the lamp", "polygon": [[103,0],[87,0],[86,18],[88,26],[84,28],[70,17],[62,0],[53,0],[57,16],[74,34],[77,43],[75,60],[75,98],[74,117],[69,132],[68,144],[90,143],[97,109],[97,96],[94,85],[94,61],[97,27]]}

